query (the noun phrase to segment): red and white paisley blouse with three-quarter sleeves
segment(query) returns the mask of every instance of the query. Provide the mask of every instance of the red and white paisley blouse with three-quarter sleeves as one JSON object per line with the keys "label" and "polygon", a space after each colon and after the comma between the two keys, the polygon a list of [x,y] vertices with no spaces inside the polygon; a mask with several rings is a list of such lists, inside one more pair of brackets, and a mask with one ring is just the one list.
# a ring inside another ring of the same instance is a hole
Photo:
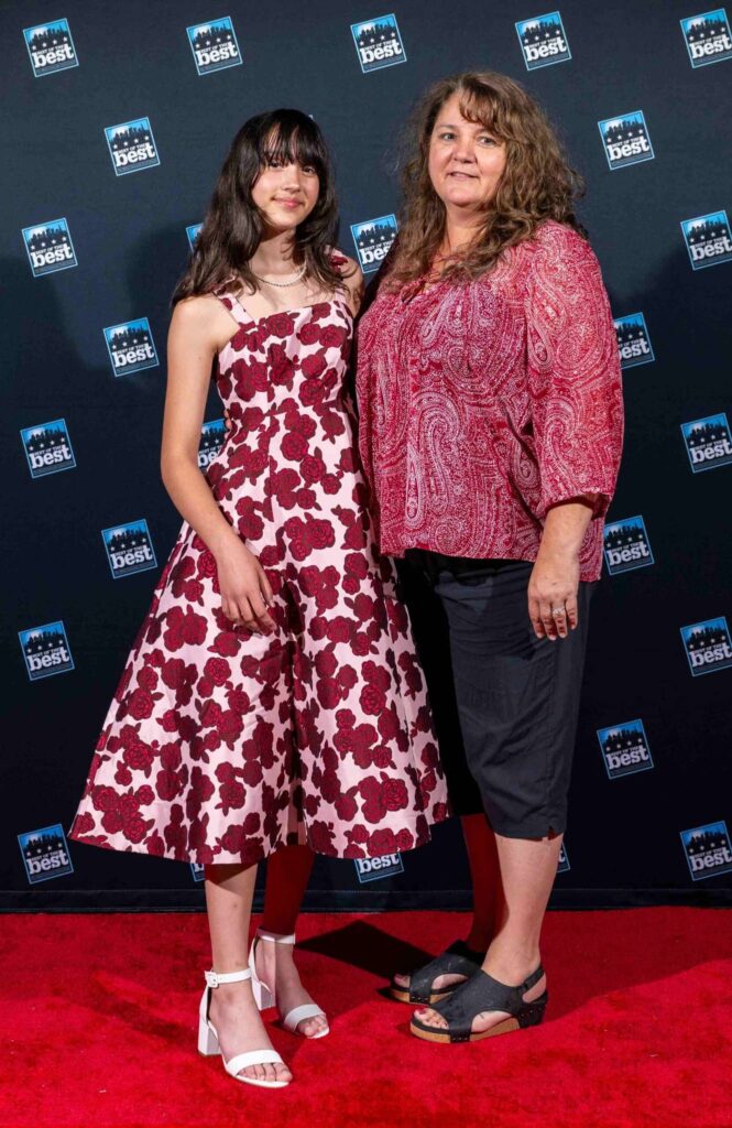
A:
{"label": "red and white paisley blouse with three-quarter sleeves", "polygon": [[599,576],[623,396],[610,306],[581,236],[548,220],[469,284],[382,288],[358,344],[381,552],[533,561],[547,510],[594,493],[580,563],[583,580]]}

